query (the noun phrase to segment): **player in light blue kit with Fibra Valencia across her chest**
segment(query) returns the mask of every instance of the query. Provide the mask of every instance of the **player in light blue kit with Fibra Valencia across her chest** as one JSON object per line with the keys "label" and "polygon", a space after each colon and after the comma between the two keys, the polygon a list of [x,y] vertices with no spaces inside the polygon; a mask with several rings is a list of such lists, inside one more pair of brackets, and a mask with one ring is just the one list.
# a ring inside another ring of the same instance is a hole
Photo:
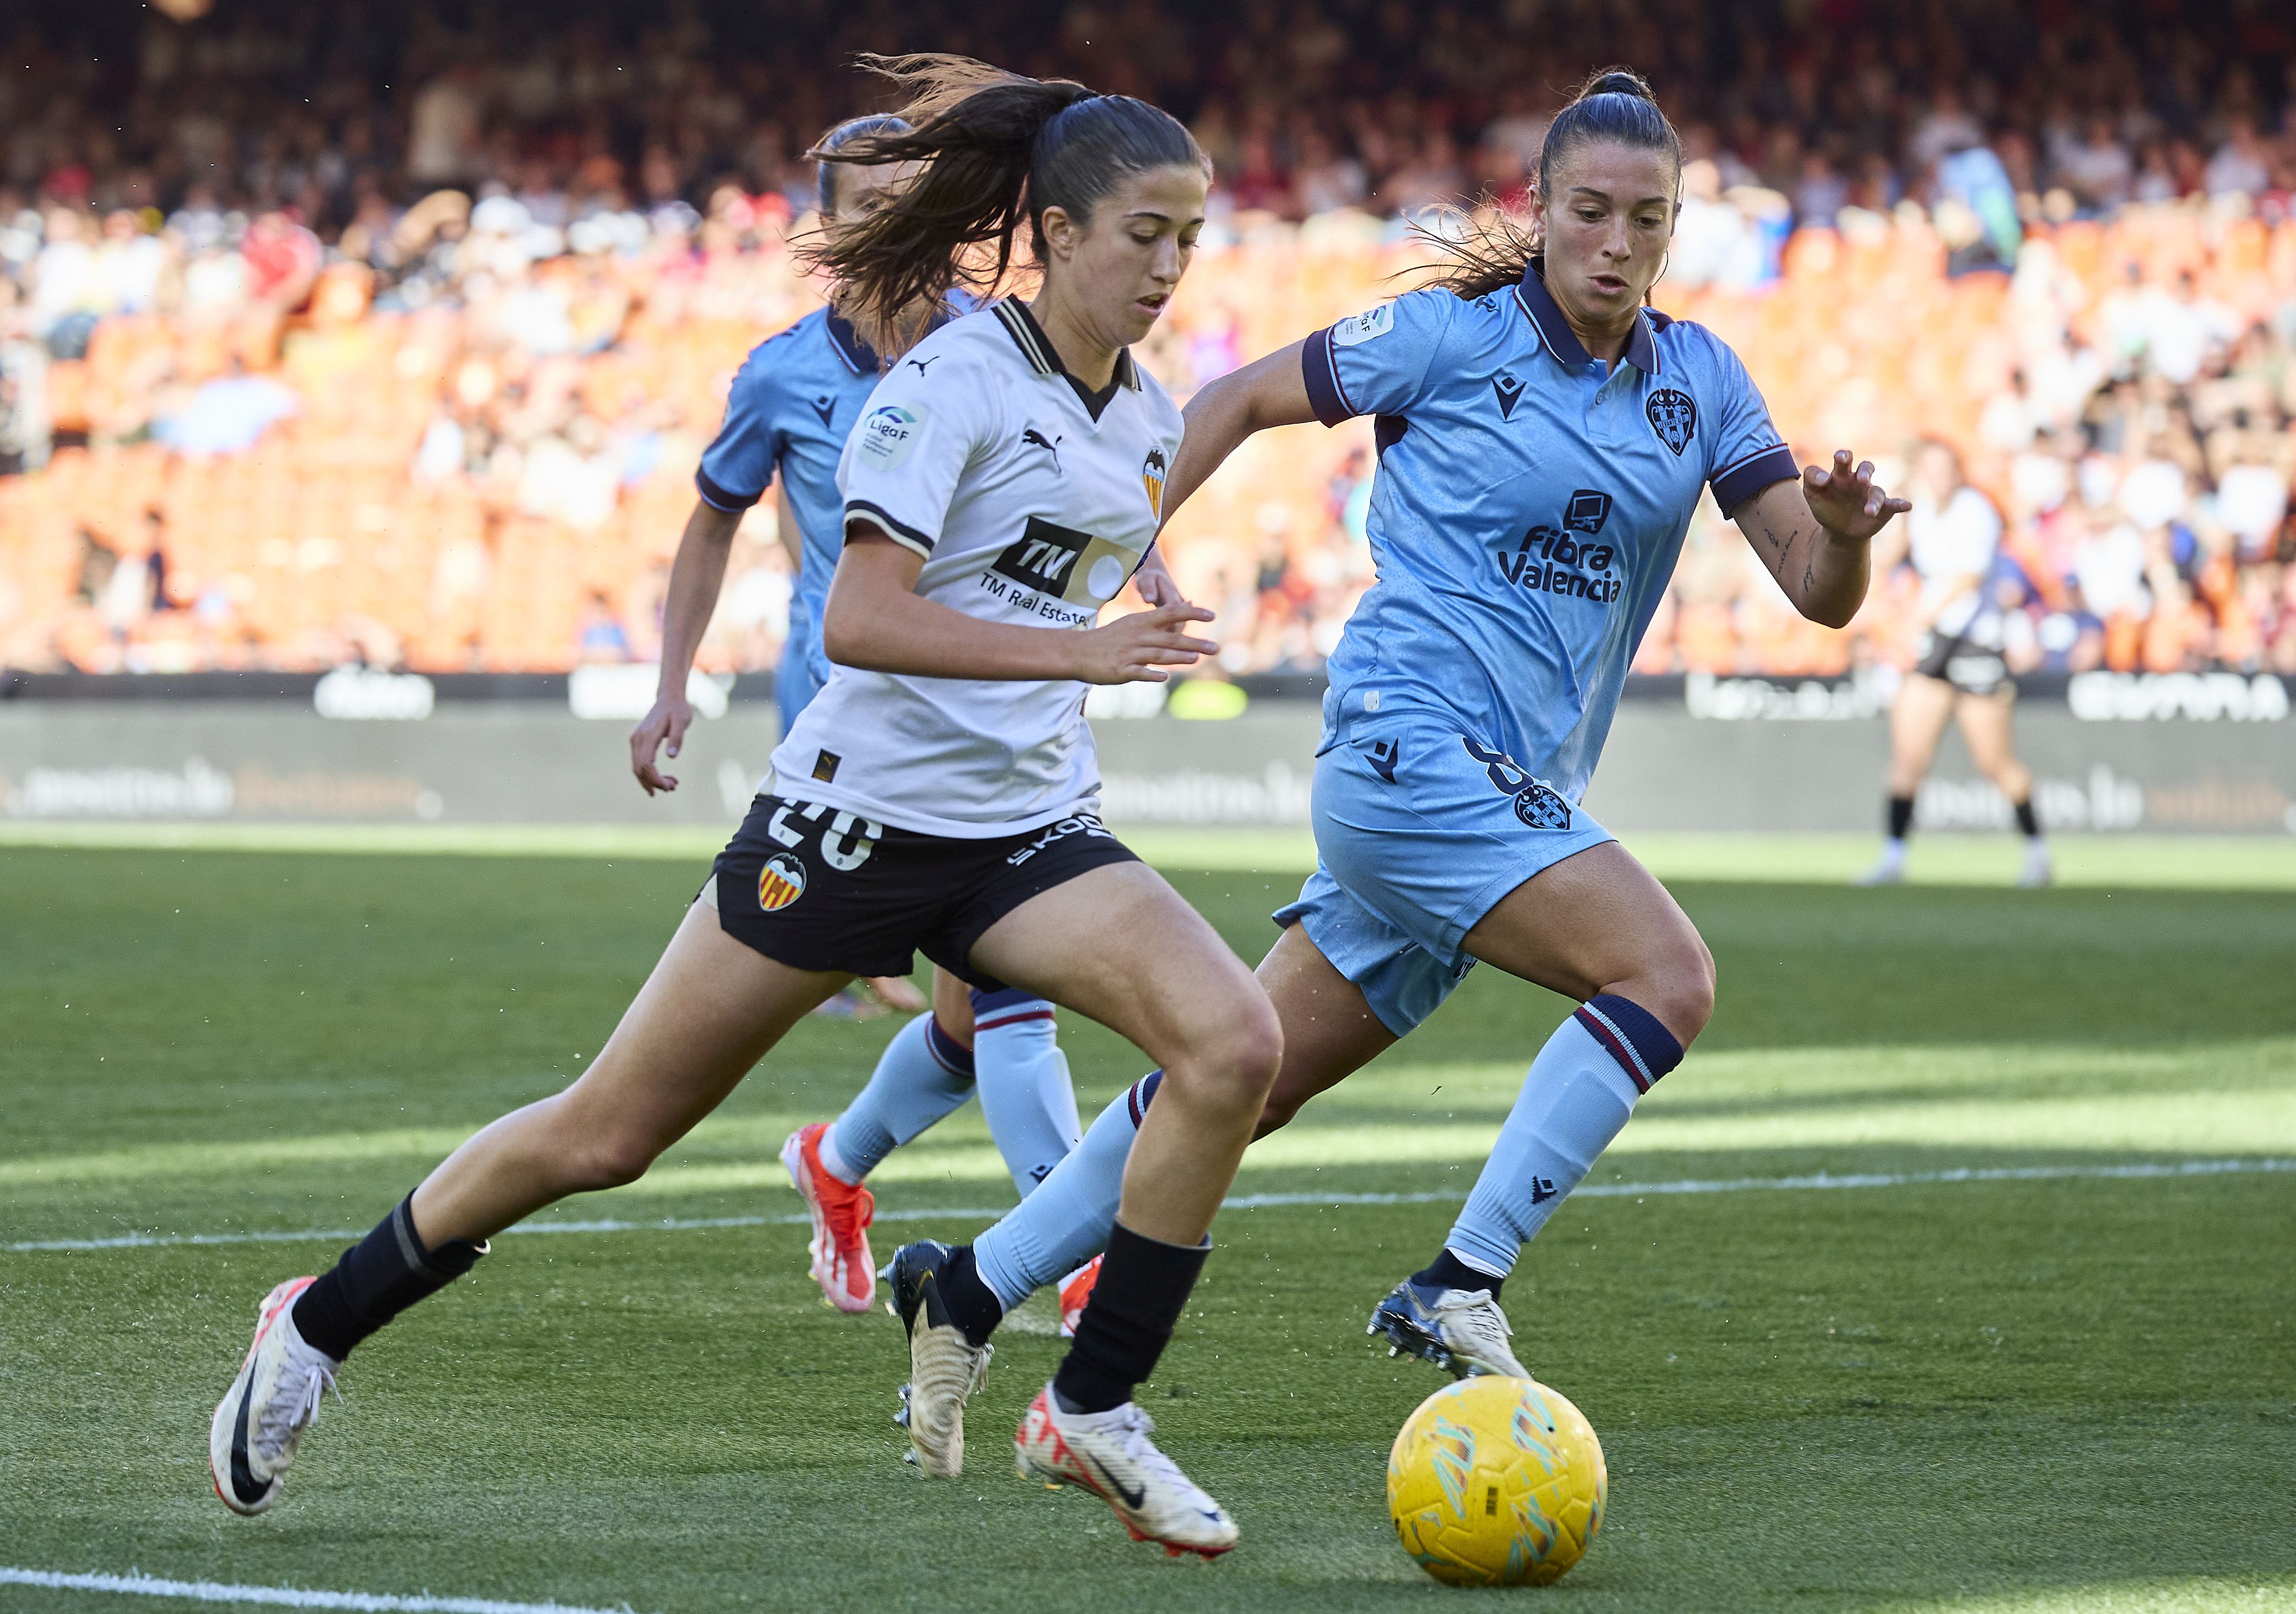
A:
{"label": "player in light blue kit with Fibra Valencia across her chest", "polygon": [[[1258,971],[1283,1022],[1258,1134],[1476,962],[1580,1003],[1442,1251],[1373,1313],[1373,1334],[1456,1373],[1522,1373],[1506,1274],[1713,1010],[1699,932],[1580,806],[1701,489],[1832,627],[1906,510],[1846,452],[1798,473],[1738,356],[1644,305],[1678,195],[1649,85],[1598,73],[1548,129],[1536,239],[1481,225],[1437,285],[1201,390],[1166,487],[1169,517],[1251,432],[1378,418],[1378,583],[1329,661],[1318,868]],[[971,1334],[1097,1249],[1155,1088],[1118,1097],[951,1258],[944,1299]]]}

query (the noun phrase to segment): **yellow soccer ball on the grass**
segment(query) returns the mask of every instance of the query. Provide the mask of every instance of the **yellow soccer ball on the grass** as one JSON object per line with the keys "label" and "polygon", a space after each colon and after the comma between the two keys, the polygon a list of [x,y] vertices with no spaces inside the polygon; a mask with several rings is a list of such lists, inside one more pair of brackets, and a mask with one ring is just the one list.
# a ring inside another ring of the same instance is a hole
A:
{"label": "yellow soccer ball on the grass", "polygon": [[1449,1586],[1545,1586],[1603,1529],[1603,1442],[1527,1378],[1469,1378],[1419,1403],[1387,1453],[1403,1550]]}

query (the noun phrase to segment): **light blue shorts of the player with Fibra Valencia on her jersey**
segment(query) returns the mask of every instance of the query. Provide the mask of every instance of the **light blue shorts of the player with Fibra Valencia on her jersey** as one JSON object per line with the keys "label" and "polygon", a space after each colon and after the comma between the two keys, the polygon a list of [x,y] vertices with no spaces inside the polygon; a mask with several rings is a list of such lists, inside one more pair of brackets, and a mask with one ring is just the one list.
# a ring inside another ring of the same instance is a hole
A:
{"label": "light blue shorts of the player with Fibra Valencia on her jersey", "polygon": [[1398,1038],[1467,978],[1467,932],[1508,891],[1614,836],[1456,719],[1357,719],[1316,758],[1316,872],[1277,909]]}

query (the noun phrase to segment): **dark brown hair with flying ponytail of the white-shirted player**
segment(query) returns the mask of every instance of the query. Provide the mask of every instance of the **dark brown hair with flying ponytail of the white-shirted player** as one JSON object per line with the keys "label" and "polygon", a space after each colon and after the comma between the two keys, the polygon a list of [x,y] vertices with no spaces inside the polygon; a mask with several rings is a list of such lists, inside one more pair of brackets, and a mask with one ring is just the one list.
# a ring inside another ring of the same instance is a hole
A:
{"label": "dark brown hair with flying ponytail of the white-shirted player", "polygon": [[[962,55],[859,57],[909,92],[900,129],[854,133],[838,163],[923,163],[868,218],[824,232],[799,257],[838,285],[838,305],[893,324],[939,305],[951,287],[992,294],[1013,269],[1013,236],[1029,225],[1042,257],[1045,209],[1091,220],[1127,174],[1210,163],[1171,112],[1132,96],[1093,94],[1068,78],[1024,78]],[[827,145],[808,152],[831,161]],[[994,246],[994,253],[978,248]]]}

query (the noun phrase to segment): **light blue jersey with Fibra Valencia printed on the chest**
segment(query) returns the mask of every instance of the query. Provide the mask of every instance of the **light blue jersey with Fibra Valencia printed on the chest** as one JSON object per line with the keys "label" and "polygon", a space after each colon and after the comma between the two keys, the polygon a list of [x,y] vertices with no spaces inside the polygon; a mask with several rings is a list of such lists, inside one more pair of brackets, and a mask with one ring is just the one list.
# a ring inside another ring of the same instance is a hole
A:
{"label": "light blue jersey with Fibra Valencia printed on the chest", "polygon": [[1577,801],[1699,489],[1733,514],[1798,473],[1745,365],[1642,310],[1605,374],[1534,273],[1382,303],[1311,335],[1304,367],[1316,416],[1378,416],[1380,443],[1378,583],[1322,744],[1373,698],[1444,709]]}

